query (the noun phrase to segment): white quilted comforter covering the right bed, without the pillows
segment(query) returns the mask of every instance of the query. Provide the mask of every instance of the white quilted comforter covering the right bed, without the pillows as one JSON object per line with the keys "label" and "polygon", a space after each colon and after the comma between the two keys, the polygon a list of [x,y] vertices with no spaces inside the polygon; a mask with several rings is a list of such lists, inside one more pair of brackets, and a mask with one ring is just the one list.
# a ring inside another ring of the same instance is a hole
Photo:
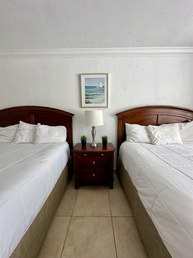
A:
{"label": "white quilted comforter covering the right bed, without the pillows", "polygon": [[193,257],[193,142],[124,142],[119,156],[173,258]]}

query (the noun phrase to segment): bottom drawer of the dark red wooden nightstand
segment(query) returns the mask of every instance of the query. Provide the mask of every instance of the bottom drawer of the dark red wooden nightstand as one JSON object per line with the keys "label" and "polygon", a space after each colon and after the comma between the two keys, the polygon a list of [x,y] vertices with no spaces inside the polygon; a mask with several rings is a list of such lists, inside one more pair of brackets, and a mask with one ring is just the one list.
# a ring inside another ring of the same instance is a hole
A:
{"label": "bottom drawer of the dark red wooden nightstand", "polygon": [[79,168],[79,180],[103,181],[109,178],[109,168]]}

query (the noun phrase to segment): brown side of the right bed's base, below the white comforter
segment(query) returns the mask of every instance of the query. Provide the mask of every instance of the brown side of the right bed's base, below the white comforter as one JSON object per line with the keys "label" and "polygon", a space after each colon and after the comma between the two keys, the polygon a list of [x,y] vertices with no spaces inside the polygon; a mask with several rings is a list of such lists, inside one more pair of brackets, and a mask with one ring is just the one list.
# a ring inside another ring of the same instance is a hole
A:
{"label": "brown side of the right bed's base, below the white comforter", "polygon": [[150,258],[171,258],[149,214],[144,208],[128,172],[118,158],[117,174],[133,209],[135,222]]}

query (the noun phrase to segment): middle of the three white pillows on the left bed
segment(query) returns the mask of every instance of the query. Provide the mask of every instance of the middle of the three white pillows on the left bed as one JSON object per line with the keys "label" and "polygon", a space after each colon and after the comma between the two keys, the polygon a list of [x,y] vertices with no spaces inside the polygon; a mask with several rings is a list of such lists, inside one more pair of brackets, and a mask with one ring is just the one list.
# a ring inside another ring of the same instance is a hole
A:
{"label": "middle of the three white pillows on the left bed", "polygon": [[15,135],[14,143],[33,143],[36,138],[37,125],[20,121],[19,128]]}

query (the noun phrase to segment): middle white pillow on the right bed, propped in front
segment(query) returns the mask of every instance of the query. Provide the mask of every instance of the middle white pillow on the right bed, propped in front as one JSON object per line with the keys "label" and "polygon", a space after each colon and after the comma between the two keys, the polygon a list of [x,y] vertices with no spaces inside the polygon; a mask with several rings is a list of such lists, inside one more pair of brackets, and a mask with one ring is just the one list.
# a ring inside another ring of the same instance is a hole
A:
{"label": "middle white pillow on the right bed, propped in front", "polygon": [[171,126],[147,126],[154,145],[182,143],[178,124]]}

